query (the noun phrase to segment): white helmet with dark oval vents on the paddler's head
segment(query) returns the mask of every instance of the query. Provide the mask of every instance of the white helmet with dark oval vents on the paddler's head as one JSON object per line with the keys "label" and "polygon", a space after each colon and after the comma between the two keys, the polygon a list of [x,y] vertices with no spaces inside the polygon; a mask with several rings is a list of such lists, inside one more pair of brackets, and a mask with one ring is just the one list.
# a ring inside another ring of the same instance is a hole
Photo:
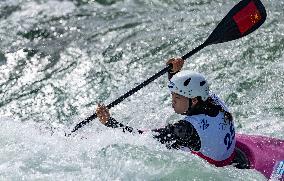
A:
{"label": "white helmet with dark oval vents on the paddler's head", "polygon": [[209,86],[205,77],[197,72],[181,71],[175,74],[168,85],[171,92],[194,98],[200,96],[203,101],[209,97]]}

